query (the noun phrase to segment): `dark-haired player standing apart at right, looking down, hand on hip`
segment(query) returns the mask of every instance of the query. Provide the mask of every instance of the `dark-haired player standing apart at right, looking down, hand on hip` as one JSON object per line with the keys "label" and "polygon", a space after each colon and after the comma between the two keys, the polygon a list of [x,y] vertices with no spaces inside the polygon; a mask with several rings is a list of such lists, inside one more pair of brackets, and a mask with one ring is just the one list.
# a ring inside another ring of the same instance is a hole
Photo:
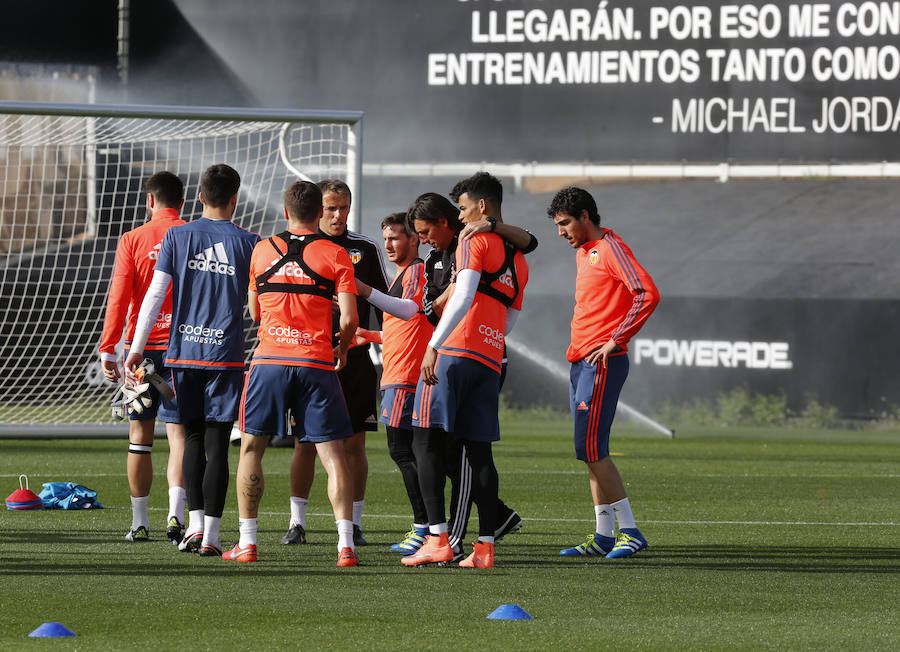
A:
{"label": "dark-haired player standing apart at right, looking down, hand on hip", "polygon": [[[659,291],[622,239],[600,226],[594,198],[581,188],[556,193],[547,214],[575,249],[575,314],[569,402],[575,421],[575,457],[587,464],[596,531],[561,555],[629,557],[647,547],[616,465],[609,429],[628,376],[628,341],[659,303]],[[619,523],[618,536],[615,521]]]}

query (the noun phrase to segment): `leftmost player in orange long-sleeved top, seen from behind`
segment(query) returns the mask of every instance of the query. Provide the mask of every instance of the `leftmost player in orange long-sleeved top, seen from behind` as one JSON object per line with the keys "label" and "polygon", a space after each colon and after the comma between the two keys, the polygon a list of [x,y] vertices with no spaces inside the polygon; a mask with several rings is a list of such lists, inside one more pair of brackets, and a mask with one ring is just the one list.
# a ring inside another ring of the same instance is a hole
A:
{"label": "leftmost player in orange long-sleeved top, seen from behind", "polygon": [[[121,378],[116,364],[116,345],[125,328],[125,355],[131,348],[137,313],[144,294],[153,278],[153,267],[159,256],[160,242],[171,227],[184,224],[178,212],[184,205],[184,184],[171,172],[157,172],[144,185],[147,193],[149,221],[125,233],[116,248],[116,266],[109,287],[106,318],[100,340],[100,364],[103,375],[111,382]],[[127,319],[126,319],[127,316]],[[169,344],[169,326],[172,322],[172,294],[167,292],[162,310],[156,316],[145,355],[153,360],[157,373],[171,383],[171,371],[166,369],[163,358]],[[128,485],[131,490],[131,530],[127,541],[149,538],[150,485],[153,482],[153,422],[157,416],[166,424],[169,440],[169,463],[166,478],[169,481],[169,513],[166,517],[166,536],[173,543],[184,535],[184,479],[181,474],[181,457],[184,453],[184,428],[174,401],[162,398],[155,387],[150,387],[153,403],[140,414],[128,414]]]}

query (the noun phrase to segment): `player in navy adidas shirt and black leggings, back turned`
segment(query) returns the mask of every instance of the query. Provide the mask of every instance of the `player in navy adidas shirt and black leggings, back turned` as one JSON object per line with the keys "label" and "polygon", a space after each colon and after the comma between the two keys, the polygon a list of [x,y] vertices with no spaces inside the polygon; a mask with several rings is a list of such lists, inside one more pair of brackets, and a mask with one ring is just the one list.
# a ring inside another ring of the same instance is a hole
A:
{"label": "player in navy adidas shirt and black leggings, back turned", "polygon": [[166,232],[138,317],[132,370],[143,359],[159,306],[172,286],[166,366],[174,371],[185,429],[184,480],[189,523],[179,550],[221,556],[219,526],[228,490],[228,438],[243,387],[244,328],[250,255],[259,236],[231,222],[241,178],[208,168],[200,180],[203,216]]}

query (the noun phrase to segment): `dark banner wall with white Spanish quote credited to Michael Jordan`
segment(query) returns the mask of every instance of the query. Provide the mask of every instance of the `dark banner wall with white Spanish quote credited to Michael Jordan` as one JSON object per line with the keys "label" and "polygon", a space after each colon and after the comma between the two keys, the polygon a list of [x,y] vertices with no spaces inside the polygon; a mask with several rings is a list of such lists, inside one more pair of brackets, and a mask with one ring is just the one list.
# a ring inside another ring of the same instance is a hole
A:
{"label": "dark banner wall with white Spanish quote credited to Michael Jordan", "polygon": [[898,2],[175,4],[262,104],[366,111],[371,160],[884,161],[900,144]]}

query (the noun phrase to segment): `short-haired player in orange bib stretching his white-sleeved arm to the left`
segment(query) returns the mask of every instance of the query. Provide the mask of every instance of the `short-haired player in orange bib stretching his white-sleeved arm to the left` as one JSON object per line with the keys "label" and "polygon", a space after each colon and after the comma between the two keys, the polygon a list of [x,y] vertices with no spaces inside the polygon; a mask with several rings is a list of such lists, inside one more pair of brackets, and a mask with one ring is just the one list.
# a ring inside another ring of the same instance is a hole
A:
{"label": "short-haired player in orange bib stretching his white-sleeved arm to the left", "polygon": [[425,265],[418,257],[419,239],[409,228],[406,213],[384,218],[381,232],[387,258],[397,267],[394,281],[387,293],[358,279],[356,284],[360,296],[384,313],[379,421],[385,425],[388,452],[400,469],[413,511],[412,529],[391,550],[410,555],[425,543],[428,534],[428,513],[412,449],[412,408],[422,356],[433,327],[422,312]]}

